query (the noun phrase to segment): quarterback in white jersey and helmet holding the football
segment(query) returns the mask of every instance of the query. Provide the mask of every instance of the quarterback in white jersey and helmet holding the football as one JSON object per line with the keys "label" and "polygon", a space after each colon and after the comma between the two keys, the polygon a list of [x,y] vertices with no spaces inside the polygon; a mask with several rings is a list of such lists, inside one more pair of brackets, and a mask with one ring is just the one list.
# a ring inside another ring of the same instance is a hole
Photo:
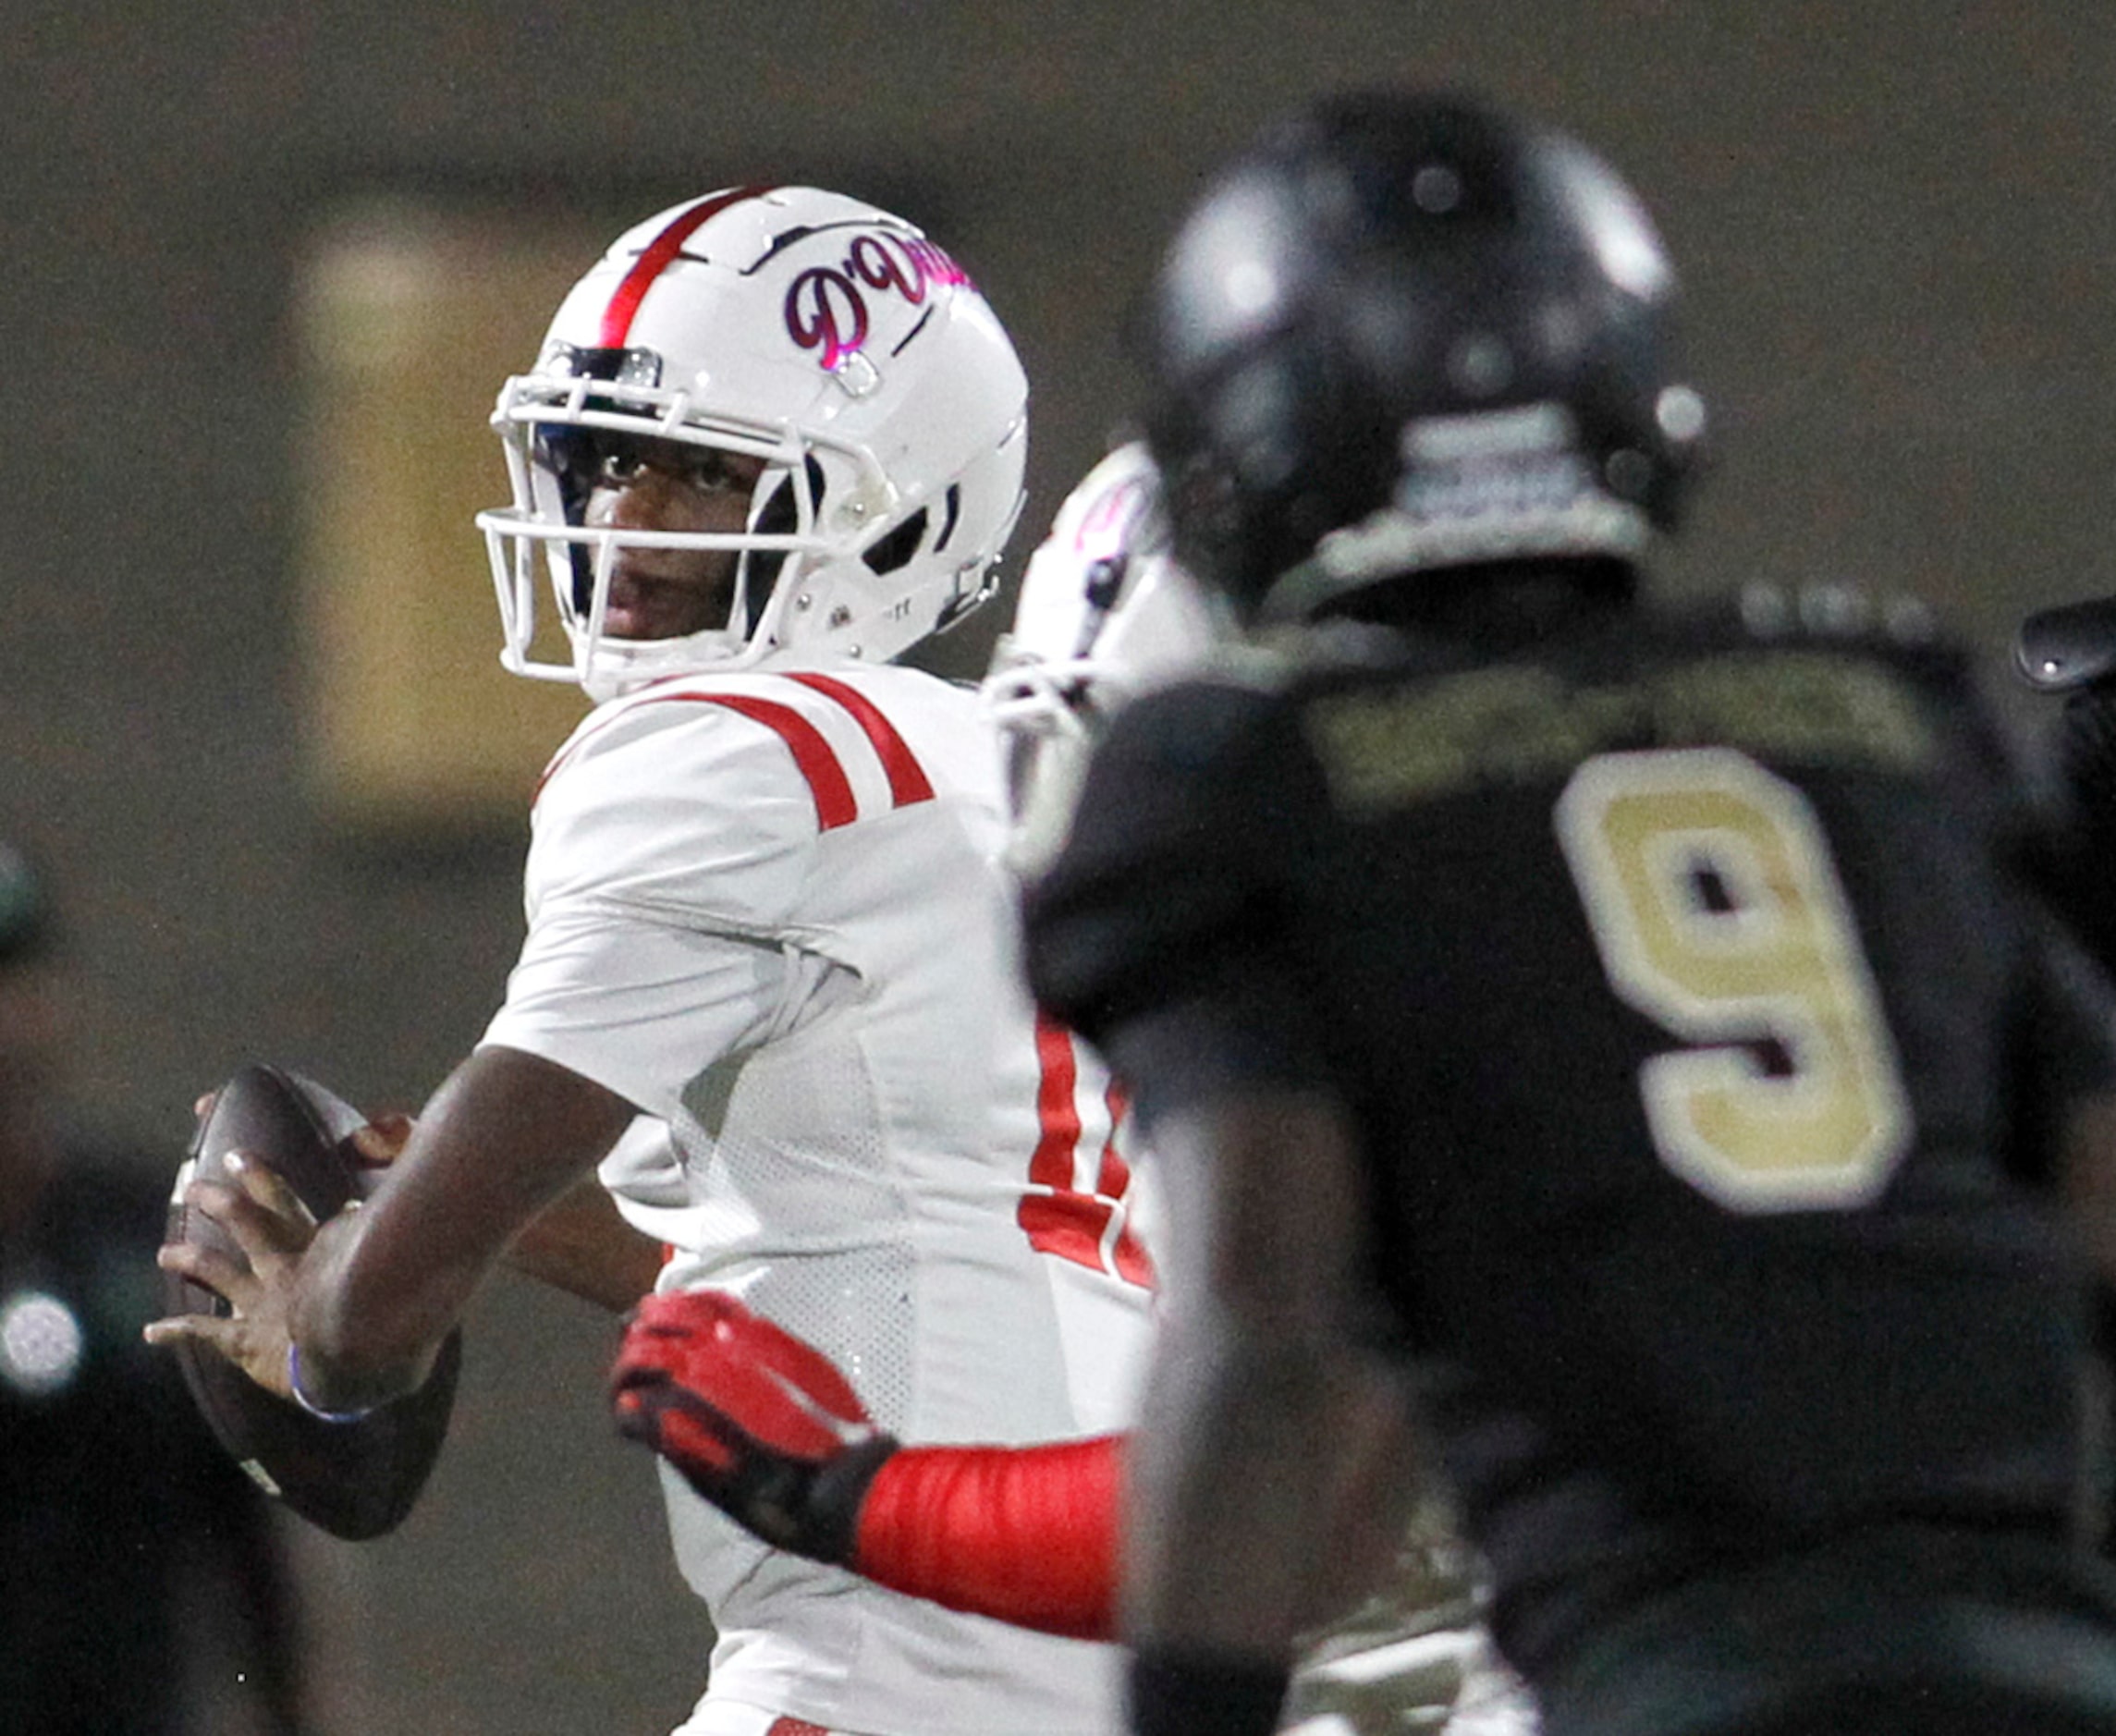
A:
{"label": "quarterback in white jersey and helmet holding the football", "polygon": [[[889,665],[990,593],[1024,404],[984,299],[872,205],[732,188],[612,246],[493,417],[504,661],[601,701],[535,798],[506,1003],[362,1211],[309,1241],[269,1175],[201,1196],[250,1268],[176,1255],[235,1317],[161,1336],[358,1412],[601,1169],[673,1249],[660,1291],[813,1340],[891,1435],[1130,1421],[1121,1101],[1020,987],[975,692]],[[1109,1647],[764,1548],[664,1484],[717,1634],[686,1736],[1117,1728]]]}

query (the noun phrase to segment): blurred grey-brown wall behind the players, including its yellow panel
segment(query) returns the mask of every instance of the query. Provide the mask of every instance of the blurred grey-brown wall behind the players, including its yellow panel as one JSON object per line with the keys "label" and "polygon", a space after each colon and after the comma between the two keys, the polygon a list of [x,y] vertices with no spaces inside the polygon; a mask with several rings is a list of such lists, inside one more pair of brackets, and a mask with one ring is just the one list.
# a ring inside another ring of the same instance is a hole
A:
{"label": "blurred grey-brown wall behind the players, including its yellow panel", "polygon": [[[870,197],[980,282],[1035,392],[1011,580],[1121,423],[1200,171],[1327,87],[1477,87],[1600,146],[1684,275],[1718,468],[1672,582],[1919,591],[2000,688],[2025,608],[2116,591],[2105,0],[6,19],[0,838],[66,915],[80,1111],[171,1167],[243,1059],[417,1107],[497,1006],[580,707],[495,665],[485,413],[609,237],[713,186]],[[421,1509],[294,1539],[315,1728],[667,1730],[707,1630],[603,1414],[609,1323],[501,1279],[470,1325]]]}

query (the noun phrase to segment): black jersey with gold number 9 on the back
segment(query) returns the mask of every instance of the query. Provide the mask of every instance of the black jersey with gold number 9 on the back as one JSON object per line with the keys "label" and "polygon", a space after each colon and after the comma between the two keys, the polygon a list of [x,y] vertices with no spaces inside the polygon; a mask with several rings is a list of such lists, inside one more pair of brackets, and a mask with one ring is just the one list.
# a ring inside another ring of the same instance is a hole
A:
{"label": "black jersey with gold number 9 on the back", "polygon": [[1350,1105],[1532,1666],[1699,1558],[2074,1516],[2080,1274],[2014,1175],[2116,1061],[2014,821],[1936,648],[1733,608],[1496,661],[1346,629],[1117,720],[1030,972],[1149,1114]]}

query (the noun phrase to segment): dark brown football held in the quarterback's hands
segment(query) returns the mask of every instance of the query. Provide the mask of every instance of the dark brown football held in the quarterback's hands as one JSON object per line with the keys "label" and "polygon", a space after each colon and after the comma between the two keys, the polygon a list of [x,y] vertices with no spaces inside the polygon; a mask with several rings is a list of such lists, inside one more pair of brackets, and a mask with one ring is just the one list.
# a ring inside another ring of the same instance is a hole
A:
{"label": "dark brown football held in the quarterback's hands", "polygon": [[[334,1217],[385,1173],[355,1162],[345,1143],[364,1122],[349,1103],[298,1073],[258,1063],[237,1069],[214,1095],[178,1169],[167,1241],[243,1258],[226,1230],[184,1205],[193,1179],[229,1179],[229,1152],[245,1152],[277,1171],[317,1224]],[[174,1272],[165,1274],[163,1289],[171,1315],[231,1313],[220,1296]],[[328,1423],[258,1387],[212,1351],[190,1342],[176,1346],[193,1399],[250,1478],[311,1524],[353,1541],[396,1529],[419,1499],[449,1431],[461,1353],[457,1330],[417,1393],[353,1423]]]}

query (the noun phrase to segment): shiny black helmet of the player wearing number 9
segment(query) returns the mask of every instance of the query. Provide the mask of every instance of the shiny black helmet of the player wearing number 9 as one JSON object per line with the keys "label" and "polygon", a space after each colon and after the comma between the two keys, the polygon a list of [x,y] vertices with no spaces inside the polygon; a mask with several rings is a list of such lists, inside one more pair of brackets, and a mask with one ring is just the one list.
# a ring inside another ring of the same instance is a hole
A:
{"label": "shiny black helmet of the player wearing number 9", "polygon": [[1354,93],[1212,178],[1138,322],[1176,557],[1248,620],[1403,572],[1634,557],[1703,434],[1674,273],[1574,140]]}

